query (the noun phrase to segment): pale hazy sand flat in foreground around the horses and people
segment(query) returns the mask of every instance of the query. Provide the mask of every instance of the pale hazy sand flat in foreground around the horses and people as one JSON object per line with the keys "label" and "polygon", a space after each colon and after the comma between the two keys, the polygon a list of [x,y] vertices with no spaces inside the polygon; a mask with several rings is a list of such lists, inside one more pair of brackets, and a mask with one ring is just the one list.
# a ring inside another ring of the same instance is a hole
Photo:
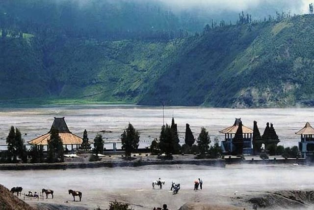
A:
{"label": "pale hazy sand flat in foreground around the horses and people", "polygon": [[[179,209],[187,201],[223,203],[231,197],[276,190],[313,189],[313,167],[292,165],[227,165],[226,168],[194,165],[158,165],[136,168],[97,168],[36,171],[0,171],[1,184],[23,186],[23,192],[54,190],[54,198],[40,202],[84,205],[89,209],[107,207],[108,202],[129,202],[135,210],[148,210],[167,203]],[[163,190],[152,189],[160,177]],[[203,190],[194,191],[193,181],[204,181]],[[27,180],[27,181],[26,181]],[[171,181],[181,183],[177,195],[169,191]],[[83,193],[82,202],[72,202],[68,189]],[[37,203],[37,201],[34,201]]]}

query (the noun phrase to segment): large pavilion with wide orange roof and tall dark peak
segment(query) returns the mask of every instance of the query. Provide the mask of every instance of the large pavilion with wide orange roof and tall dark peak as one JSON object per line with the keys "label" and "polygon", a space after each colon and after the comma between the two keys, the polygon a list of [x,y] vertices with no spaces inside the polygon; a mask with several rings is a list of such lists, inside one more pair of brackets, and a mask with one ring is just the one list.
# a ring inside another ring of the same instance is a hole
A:
{"label": "large pavilion with wide orange roof and tall dark peak", "polygon": [[54,118],[51,129],[48,133],[41,135],[31,141],[28,141],[28,144],[37,145],[37,146],[47,146],[48,140],[50,140],[52,129],[56,129],[59,132],[59,136],[62,140],[62,144],[67,148],[68,145],[71,145],[71,149],[73,150],[73,146],[76,146],[78,150],[79,145],[82,144],[83,139],[69,130],[64,117],[63,118]]}

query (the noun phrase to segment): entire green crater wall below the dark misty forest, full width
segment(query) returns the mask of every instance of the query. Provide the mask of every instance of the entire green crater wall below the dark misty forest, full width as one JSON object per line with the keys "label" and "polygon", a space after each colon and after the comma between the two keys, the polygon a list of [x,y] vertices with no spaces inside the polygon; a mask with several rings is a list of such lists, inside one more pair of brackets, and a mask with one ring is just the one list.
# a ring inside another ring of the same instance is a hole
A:
{"label": "entire green crater wall below the dark misty forest, full width", "polygon": [[313,22],[303,15],[221,25],[169,40],[26,34],[1,25],[0,101],[314,105]]}

